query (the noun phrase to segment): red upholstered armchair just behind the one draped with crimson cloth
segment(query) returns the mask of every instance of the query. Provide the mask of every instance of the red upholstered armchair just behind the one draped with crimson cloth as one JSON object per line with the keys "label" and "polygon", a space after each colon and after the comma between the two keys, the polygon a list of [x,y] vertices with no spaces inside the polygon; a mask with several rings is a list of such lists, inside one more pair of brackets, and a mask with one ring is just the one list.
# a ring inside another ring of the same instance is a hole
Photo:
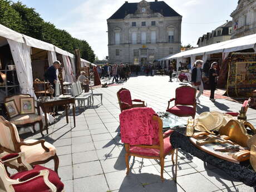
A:
{"label": "red upholstered armchair just behind the one draped with crimson cloth", "polygon": [[[138,99],[131,100],[131,92],[126,88],[121,88],[119,91],[117,91],[116,95],[121,112],[123,110],[131,109],[134,107],[146,107],[145,101],[141,101]],[[132,102],[141,102],[141,104],[132,104]]]}

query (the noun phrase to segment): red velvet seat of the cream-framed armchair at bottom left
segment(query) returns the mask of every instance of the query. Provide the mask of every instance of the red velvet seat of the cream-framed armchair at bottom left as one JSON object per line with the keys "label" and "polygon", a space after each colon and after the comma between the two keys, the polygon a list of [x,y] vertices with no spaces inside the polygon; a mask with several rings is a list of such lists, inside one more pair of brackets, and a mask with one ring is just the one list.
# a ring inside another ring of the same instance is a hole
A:
{"label": "red velvet seat of the cream-framed armchair at bottom left", "polygon": [[[38,171],[46,170],[46,169],[47,168],[45,168],[43,166],[35,165],[34,169],[29,170],[29,171],[22,171],[17,174],[14,174],[11,176],[11,179],[19,179],[19,178],[22,178],[22,176],[27,175],[29,173],[38,172]],[[55,171],[53,171],[51,169],[47,169],[47,170],[49,170],[49,172],[50,172],[48,179],[51,181],[51,183],[53,183],[56,186],[57,192],[61,192],[64,188],[64,185],[63,185],[63,183],[61,183],[60,178],[58,178],[58,174],[55,173]],[[30,181],[27,181],[26,183],[23,183],[23,184],[13,185],[13,188],[14,188],[15,192],[35,192],[35,191],[36,192],[49,192],[49,188],[43,181],[42,176],[32,179]]]}

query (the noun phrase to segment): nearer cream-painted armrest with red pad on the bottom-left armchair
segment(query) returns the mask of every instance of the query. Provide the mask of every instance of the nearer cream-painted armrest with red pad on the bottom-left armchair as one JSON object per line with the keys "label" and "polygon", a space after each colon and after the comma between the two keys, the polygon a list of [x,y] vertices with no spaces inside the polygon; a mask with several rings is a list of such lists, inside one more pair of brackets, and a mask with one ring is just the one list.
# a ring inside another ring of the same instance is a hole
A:
{"label": "nearer cream-painted armrest with red pad on the bottom-left armchair", "polygon": [[52,184],[49,180],[49,170],[41,170],[40,172],[38,171],[34,171],[32,173],[26,174],[24,176],[22,176],[19,179],[16,180],[8,180],[8,184],[9,185],[17,185],[17,184],[23,184],[23,183],[27,183],[28,181],[34,180],[36,178],[39,178],[41,176],[43,176],[43,181],[45,182],[45,184],[48,186],[48,188],[50,188],[51,191],[57,191],[57,188],[54,184]]}

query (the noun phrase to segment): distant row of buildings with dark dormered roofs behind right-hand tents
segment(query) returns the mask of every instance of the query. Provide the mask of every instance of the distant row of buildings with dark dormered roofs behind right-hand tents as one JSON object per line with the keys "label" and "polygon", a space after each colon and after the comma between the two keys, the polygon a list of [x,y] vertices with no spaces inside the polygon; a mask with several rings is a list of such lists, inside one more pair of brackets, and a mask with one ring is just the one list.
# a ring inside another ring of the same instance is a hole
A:
{"label": "distant row of buildings with dark dormered roofs behind right-hand tents", "polygon": [[227,21],[227,23],[217,27],[215,30],[199,37],[197,43],[198,47],[230,40],[232,35],[232,23],[232,21]]}

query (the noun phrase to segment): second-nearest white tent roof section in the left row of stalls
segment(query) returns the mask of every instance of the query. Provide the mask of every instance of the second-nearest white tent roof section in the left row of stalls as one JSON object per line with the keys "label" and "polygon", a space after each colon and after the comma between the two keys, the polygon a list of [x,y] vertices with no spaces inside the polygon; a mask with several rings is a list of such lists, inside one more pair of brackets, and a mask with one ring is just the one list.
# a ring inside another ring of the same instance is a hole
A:
{"label": "second-nearest white tent roof section in the left row of stalls", "polygon": [[26,35],[23,35],[23,37],[26,41],[26,44],[30,47],[40,48],[41,50],[46,50],[46,51],[55,51],[54,46],[50,43],[46,43],[44,41],[40,41]]}

